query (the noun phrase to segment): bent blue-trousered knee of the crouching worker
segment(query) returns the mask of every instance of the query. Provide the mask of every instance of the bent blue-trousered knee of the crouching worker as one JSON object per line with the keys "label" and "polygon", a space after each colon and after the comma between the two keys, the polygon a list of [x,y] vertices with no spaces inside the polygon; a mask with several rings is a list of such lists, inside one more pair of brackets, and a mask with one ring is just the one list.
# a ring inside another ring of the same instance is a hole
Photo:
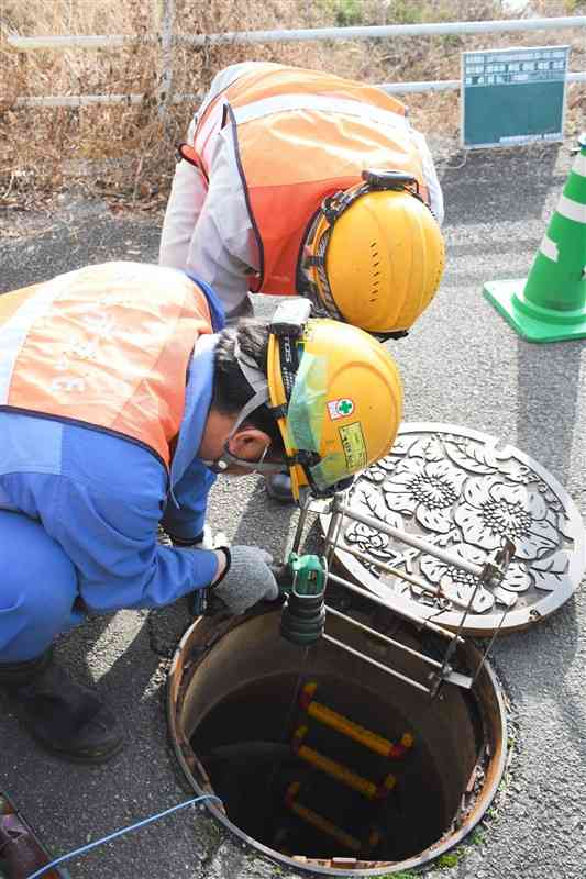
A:
{"label": "bent blue-trousered knee of the crouching worker", "polygon": [[75,568],[42,525],[0,511],[0,661],[35,656],[68,627]]}

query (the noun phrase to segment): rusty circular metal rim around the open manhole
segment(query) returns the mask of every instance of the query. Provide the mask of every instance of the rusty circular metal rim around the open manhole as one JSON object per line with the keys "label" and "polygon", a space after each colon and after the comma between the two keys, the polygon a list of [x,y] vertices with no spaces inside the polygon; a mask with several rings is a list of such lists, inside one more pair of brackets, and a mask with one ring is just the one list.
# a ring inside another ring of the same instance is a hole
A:
{"label": "rusty circular metal rim around the open manhole", "polygon": [[[273,609],[268,609],[263,613],[275,613]],[[223,637],[233,628],[245,624],[248,620],[253,619],[254,616],[259,615],[258,613],[255,614],[244,614],[240,616],[237,620],[231,619],[228,623],[221,625],[221,632],[217,634],[215,637],[212,637],[211,641],[208,641],[203,650],[200,652],[200,656],[198,659],[202,659],[204,655],[211,650],[217,643],[218,639]],[[173,746],[173,750],[177,758],[177,761],[184,772],[187,781],[194,789],[194,791],[198,795],[209,794],[210,790],[206,789],[203,786],[199,783],[199,781],[195,778],[191,769],[189,768],[185,753],[181,748],[181,736],[179,734],[179,730],[177,726],[177,717],[176,717],[176,701],[177,697],[180,691],[181,687],[181,677],[184,671],[184,666],[181,663],[184,654],[189,649],[190,642],[195,639],[195,636],[198,634],[198,627],[201,626],[212,627],[213,623],[209,619],[199,617],[194,621],[194,623],[189,626],[189,628],[184,633],[181,639],[177,645],[177,649],[173,656],[172,665],[169,668],[168,677],[167,677],[167,693],[166,693],[166,704],[167,704],[167,727],[168,734],[170,738],[170,743]],[[480,656],[477,648],[472,645],[467,644],[467,648],[472,648],[475,653]],[[430,864],[431,861],[435,860],[436,858],[441,857],[443,854],[454,849],[458,846],[466,836],[479,824],[483,820],[484,815],[490,808],[493,803],[502,777],[505,775],[505,769],[507,766],[507,756],[508,756],[508,744],[507,744],[507,736],[508,736],[508,725],[507,725],[507,706],[505,703],[504,694],[502,694],[502,686],[496,675],[495,670],[493,669],[489,661],[485,661],[483,666],[482,674],[486,674],[488,677],[489,686],[496,699],[496,703],[498,706],[498,717],[500,719],[500,728],[498,730],[499,737],[500,737],[500,754],[496,759],[496,766],[493,765],[493,759],[490,761],[490,781],[483,787],[482,793],[478,797],[473,810],[471,811],[467,819],[464,821],[462,826],[447,839],[442,841],[441,843],[433,845],[427,849],[424,849],[419,856],[411,857],[407,860],[401,861],[389,861],[385,866],[382,867],[369,867],[369,868],[360,868],[360,869],[352,869],[352,868],[342,868],[342,867],[323,867],[321,865],[312,864],[309,859],[308,863],[303,864],[301,861],[295,860],[294,858],[288,857],[287,855],[283,855],[280,852],[277,852],[274,848],[265,845],[258,839],[250,836],[243,830],[241,830],[236,824],[234,824],[226,814],[222,812],[213,802],[210,800],[202,801],[203,808],[210,812],[214,820],[219,821],[222,826],[230,831],[230,833],[234,834],[241,842],[245,843],[251,848],[255,849],[256,852],[262,853],[266,858],[272,861],[277,861],[279,865],[286,865],[294,870],[298,870],[300,872],[307,872],[308,875],[321,875],[321,876],[338,876],[343,879],[349,879],[349,876],[360,876],[360,877],[368,877],[368,876],[388,876],[392,875],[394,872],[400,872],[405,870],[409,870],[416,867],[422,867],[425,864]],[[195,759],[197,755],[191,750],[190,747],[186,746],[194,755]]]}

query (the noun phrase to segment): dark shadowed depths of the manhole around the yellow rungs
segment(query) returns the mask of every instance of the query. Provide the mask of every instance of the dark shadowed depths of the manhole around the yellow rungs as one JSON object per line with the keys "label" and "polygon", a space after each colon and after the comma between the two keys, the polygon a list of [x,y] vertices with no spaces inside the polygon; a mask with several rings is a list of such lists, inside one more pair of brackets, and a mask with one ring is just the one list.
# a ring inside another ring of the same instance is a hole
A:
{"label": "dark shadowed depths of the manhole around the yellow rungs", "polygon": [[[411,730],[398,709],[389,712],[376,693],[335,677],[320,677],[316,682],[324,704],[346,717],[358,717],[361,725],[380,731],[392,742]],[[218,705],[191,738],[231,821],[273,848],[283,846],[317,858],[347,857],[350,838],[344,845],[287,806],[288,790],[297,782],[307,808],[362,841],[376,859],[401,860],[438,839],[455,803],[424,735],[418,732],[409,753],[389,763],[336,731],[307,724],[303,742],[308,748],[352,767],[362,778],[384,779],[394,770],[397,783],[385,799],[366,797],[294,753],[291,733],[306,725],[301,708],[294,712],[295,728],[288,724],[296,685],[296,676],[279,675],[243,687]],[[378,844],[373,845],[373,833],[378,833]]]}

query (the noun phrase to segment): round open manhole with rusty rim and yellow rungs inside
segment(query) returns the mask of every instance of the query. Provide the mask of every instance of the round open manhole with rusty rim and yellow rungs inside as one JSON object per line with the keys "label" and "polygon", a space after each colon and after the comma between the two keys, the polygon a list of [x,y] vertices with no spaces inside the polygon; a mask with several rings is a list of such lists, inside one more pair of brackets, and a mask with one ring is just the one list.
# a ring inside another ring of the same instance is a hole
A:
{"label": "round open manhole with rusty rim and yellow rungs inside", "polygon": [[[200,619],[175,655],[170,734],[194,790],[222,799],[225,811],[210,801],[212,814],[273,860],[332,876],[405,870],[462,841],[505,767],[506,715],[490,666],[472,688],[444,682],[431,699],[331,642],[288,643],[279,619],[274,610]],[[388,626],[405,646],[440,657],[433,633],[392,617]],[[340,619],[329,617],[328,632],[427,682],[429,669],[410,653]],[[479,660],[464,642],[452,665],[474,675]]]}

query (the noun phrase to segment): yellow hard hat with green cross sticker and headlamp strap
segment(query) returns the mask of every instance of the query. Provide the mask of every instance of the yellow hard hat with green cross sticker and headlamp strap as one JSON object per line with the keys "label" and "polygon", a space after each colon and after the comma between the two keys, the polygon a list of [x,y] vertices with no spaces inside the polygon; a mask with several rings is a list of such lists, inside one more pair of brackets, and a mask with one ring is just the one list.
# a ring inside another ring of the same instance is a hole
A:
{"label": "yellow hard hat with green cross sticker and headlamp strap", "polygon": [[324,496],[388,454],[401,420],[401,380],[390,354],[368,333],[330,319],[296,326],[278,315],[266,370],[272,412],[294,497],[305,487]]}

